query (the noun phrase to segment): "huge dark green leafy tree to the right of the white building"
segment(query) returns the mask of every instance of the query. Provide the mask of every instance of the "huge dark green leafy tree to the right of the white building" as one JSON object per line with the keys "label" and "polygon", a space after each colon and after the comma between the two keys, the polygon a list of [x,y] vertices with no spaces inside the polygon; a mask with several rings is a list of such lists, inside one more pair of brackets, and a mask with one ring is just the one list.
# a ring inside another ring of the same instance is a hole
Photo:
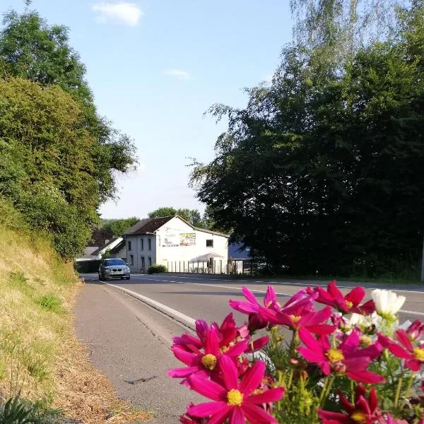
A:
{"label": "huge dark green leafy tree to the right of the white building", "polygon": [[[326,73],[288,47],[270,88],[249,91],[216,158],[192,182],[213,220],[273,269],[399,271],[418,263],[424,210],[424,6],[396,37]],[[240,172],[243,170],[243,172]]]}

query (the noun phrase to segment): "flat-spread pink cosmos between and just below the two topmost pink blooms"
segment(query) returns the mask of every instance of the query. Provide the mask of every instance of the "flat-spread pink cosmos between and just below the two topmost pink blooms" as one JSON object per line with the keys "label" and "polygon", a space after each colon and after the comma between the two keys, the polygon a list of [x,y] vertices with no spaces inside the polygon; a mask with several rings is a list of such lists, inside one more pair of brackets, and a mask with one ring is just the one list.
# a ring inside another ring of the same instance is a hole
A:
{"label": "flat-spread pink cosmos between and just below the two topmost pink blooms", "polygon": [[263,310],[261,314],[269,319],[271,324],[280,324],[290,327],[290,329],[298,330],[301,327],[309,330],[314,334],[331,334],[336,326],[325,324],[331,317],[331,307],[325,307],[318,312],[307,312],[300,315],[286,314],[281,311]]}

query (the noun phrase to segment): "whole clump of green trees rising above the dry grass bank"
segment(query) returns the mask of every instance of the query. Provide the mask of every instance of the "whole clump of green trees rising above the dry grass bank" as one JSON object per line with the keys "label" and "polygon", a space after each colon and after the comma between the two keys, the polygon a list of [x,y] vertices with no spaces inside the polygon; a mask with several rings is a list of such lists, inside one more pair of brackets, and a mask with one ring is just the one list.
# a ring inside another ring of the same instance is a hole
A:
{"label": "whole clump of green trees rising above the dry grass bank", "polygon": [[114,196],[116,172],[134,169],[135,146],[98,116],[65,27],[6,13],[0,70],[0,195],[71,259]]}

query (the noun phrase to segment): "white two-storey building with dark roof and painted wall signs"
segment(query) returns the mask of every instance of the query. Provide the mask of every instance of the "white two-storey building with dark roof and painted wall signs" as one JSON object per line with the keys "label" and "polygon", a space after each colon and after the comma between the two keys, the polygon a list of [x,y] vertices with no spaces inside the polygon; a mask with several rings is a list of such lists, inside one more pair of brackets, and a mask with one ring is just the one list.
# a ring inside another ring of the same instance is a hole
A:
{"label": "white two-storey building with dark roof and painted wall signs", "polygon": [[196,228],[179,216],[142,219],[124,235],[126,262],[131,272],[146,272],[153,264],[168,271],[224,272],[228,236]]}

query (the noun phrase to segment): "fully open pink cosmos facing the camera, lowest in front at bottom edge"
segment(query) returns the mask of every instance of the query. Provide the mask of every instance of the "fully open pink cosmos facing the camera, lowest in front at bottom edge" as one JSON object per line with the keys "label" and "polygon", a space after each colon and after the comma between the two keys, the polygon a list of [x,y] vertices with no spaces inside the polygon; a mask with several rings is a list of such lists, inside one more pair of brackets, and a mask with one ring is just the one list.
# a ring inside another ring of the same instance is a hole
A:
{"label": "fully open pink cosmos facing the camera, lowest in front at bottom edge", "polygon": [[192,389],[213,402],[191,406],[187,413],[199,418],[210,417],[208,424],[223,424],[228,418],[231,424],[245,424],[246,420],[250,423],[277,423],[261,406],[279,401],[284,394],[283,387],[259,393],[256,390],[264,378],[265,363],[254,363],[240,382],[237,368],[230,358],[222,356],[219,367],[223,386],[198,375],[189,378]]}

